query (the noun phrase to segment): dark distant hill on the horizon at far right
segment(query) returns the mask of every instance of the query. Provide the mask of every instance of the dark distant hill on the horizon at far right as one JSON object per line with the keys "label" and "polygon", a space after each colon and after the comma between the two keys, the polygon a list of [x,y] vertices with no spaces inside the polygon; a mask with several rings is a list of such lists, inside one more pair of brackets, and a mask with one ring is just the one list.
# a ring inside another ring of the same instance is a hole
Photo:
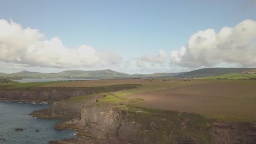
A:
{"label": "dark distant hill on the horizon at far right", "polygon": [[243,71],[253,70],[255,68],[205,68],[189,71],[187,73],[177,75],[178,78],[182,77],[207,77],[207,76],[217,76],[230,73],[242,73]]}

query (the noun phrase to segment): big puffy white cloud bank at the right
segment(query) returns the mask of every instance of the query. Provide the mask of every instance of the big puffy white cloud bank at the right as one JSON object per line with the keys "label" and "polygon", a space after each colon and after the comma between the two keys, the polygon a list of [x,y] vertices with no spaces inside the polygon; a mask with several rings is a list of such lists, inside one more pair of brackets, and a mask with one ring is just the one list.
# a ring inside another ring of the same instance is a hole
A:
{"label": "big puffy white cloud bank at the right", "polygon": [[245,20],[235,27],[223,27],[191,35],[188,44],[172,51],[171,62],[182,67],[214,67],[220,63],[239,67],[256,65],[256,21]]}

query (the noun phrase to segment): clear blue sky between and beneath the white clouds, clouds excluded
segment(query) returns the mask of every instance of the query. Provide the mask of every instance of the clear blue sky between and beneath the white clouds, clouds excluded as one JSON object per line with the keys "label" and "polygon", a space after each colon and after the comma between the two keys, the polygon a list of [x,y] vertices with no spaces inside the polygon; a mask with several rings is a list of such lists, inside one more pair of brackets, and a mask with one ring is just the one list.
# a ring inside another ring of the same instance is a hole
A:
{"label": "clear blue sky between and beneath the white clouds, clouds excluded", "polygon": [[[170,66],[149,60],[149,65],[137,67],[136,59],[144,55],[156,56],[160,50],[167,56],[188,44],[191,35],[212,28],[235,27],[238,23],[256,20],[255,1],[2,1],[0,19],[10,19],[22,25],[39,29],[49,40],[58,37],[67,49],[81,45],[92,46],[103,52],[114,52],[122,62],[131,63],[131,69],[108,65],[57,68],[53,65],[30,65],[17,69],[61,71],[65,69],[111,68],[127,73],[177,72],[196,69],[184,65]],[[1,33],[1,32],[0,32]],[[143,58],[142,58],[143,59]],[[150,58],[149,58],[150,59]],[[5,64],[15,62],[4,61]],[[131,62],[130,62],[131,61]],[[133,62],[134,61],[134,62]],[[143,60],[144,61],[144,60]],[[146,58],[147,61],[147,58]],[[224,61],[225,63],[225,61]],[[229,63],[229,62],[228,62]],[[237,62],[236,62],[237,63]],[[19,63],[18,63],[19,64]],[[21,64],[26,64],[21,63]],[[138,62],[137,62],[138,64]],[[218,65],[218,64],[216,64]],[[243,64],[242,64],[243,65]],[[207,65],[202,65],[202,67]]]}

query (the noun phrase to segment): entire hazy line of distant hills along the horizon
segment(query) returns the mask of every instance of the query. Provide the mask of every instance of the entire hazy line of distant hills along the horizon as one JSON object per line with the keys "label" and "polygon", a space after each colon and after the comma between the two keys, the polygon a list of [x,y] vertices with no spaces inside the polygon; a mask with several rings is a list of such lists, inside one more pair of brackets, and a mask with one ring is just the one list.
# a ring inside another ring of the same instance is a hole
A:
{"label": "entire hazy line of distant hills along the horizon", "polygon": [[23,70],[18,73],[0,73],[1,77],[10,78],[69,78],[69,79],[139,79],[139,78],[177,78],[218,76],[231,73],[243,73],[255,68],[203,68],[181,73],[126,74],[111,69],[104,70],[66,70],[59,73],[40,73]]}

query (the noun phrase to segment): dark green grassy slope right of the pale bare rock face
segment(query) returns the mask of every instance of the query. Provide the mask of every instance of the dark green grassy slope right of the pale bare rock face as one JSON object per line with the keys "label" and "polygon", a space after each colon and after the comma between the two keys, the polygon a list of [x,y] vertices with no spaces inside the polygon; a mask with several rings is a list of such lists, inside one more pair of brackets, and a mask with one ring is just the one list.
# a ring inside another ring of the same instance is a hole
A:
{"label": "dark green grassy slope right of the pale bare rock face", "polygon": [[156,140],[155,143],[176,143],[181,136],[195,137],[199,143],[210,143],[208,128],[211,122],[202,115],[134,105],[115,107],[125,111],[125,117],[130,118],[131,122],[142,124],[138,135],[147,135],[148,139]]}

